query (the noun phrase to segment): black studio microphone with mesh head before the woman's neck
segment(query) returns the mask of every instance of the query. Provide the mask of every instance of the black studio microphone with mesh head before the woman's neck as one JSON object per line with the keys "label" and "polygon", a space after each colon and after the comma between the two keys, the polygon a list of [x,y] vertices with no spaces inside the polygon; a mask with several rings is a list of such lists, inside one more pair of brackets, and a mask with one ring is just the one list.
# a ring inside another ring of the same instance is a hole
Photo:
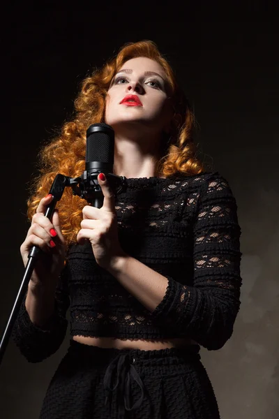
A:
{"label": "black studio microphone with mesh head before the woman's neck", "polygon": [[114,165],[114,130],[107,124],[92,124],[86,131],[85,171],[83,197],[100,208],[103,205],[103,192],[98,184],[99,173],[113,172]]}

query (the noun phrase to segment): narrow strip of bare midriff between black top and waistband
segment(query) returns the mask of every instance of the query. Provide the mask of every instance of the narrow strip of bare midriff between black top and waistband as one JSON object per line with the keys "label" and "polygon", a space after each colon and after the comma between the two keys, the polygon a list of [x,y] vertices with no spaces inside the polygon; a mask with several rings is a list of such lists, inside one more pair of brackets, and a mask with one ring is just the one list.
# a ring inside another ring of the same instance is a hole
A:
{"label": "narrow strip of bare midriff between black top and waistband", "polygon": [[183,348],[188,345],[197,345],[197,342],[190,338],[172,338],[159,341],[142,339],[123,340],[114,337],[86,337],[75,335],[73,340],[80,342],[80,344],[99,346],[100,348],[140,349],[141,351]]}

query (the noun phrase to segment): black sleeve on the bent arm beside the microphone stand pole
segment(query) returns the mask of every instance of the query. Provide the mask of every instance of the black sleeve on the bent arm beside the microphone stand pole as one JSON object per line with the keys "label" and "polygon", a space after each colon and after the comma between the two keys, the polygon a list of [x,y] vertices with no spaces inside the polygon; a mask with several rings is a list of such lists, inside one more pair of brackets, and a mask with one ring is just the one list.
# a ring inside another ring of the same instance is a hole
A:
{"label": "black sleeve on the bent arm beside the microphone stand pole", "polygon": [[24,296],[13,327],[12,339],[28,362],[40,362],[50,357],[65,338],[68,327],[66,311],[70,305],[66,271],[64,267],[56,287],[54,315],[44,328],[38,328],[31,322],[25,307],[27,293]]}

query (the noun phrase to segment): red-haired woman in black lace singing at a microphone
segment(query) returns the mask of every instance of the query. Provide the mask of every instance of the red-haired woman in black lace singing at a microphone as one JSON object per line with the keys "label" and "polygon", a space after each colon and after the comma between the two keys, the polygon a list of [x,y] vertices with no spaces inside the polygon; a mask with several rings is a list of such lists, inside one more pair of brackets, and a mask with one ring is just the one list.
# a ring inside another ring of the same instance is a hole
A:
{"label": "red-haired woman in black lace singing at a microphone", "polygon": [[[219,418],[200,346],[222,348],[240,306],[237,207],[206,172],[193,114],[151,41],[124,45],[82,84],[73,122],[43,149],[21,253],[43,252],[13,338],[29,362],[57,351],[70,306],[70,347],[43,401],[44,418]],[[67,189],[52,221],[57,173],[84,170],[90,124],[114,128],[114,196],[86,205]],[[45,196],[45,198],[43,198]]]}

